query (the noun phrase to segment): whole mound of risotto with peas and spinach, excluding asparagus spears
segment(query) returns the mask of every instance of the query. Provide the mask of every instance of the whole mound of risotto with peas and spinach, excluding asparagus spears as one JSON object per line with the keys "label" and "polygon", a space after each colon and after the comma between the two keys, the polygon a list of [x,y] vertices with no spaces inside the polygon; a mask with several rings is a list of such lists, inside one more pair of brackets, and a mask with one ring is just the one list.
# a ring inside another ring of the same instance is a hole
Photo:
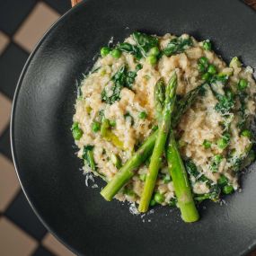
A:
{"label": "whole mound of risotto with peas and spinach, excluding asparagus spears", "polygon": [[[209,40],[135,32],[123,43],[103,47],[75,102],[72,132],[78,157],[84,159],[84,172],[110,182],[157,129],[155,84],[160,79],[168,84],[173,71],[172,119],[179,102],[197,93],[173,127],[192,197],[217,201],[239,188],[239,172],[254,159],[256,84],[250,66],[237,57],[226,65]],[[147,157],[131,170],[115,199],[139,203],[149,164]],[[150,206],[177,206],[164,152],[158,171]]]}

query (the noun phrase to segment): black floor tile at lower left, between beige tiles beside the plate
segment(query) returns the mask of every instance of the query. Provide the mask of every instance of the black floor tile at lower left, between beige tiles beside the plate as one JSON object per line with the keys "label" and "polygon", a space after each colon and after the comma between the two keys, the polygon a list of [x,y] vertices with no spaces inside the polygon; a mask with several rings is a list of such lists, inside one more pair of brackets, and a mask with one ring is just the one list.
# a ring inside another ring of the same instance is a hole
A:
{"label": "black floor tile at lower left, between beige tiles beside the plate", "polygon": [[34,214],[22,190],[18,193],[16,198],[13,199],[11,205],[5,210],[4,216],[7,216],[16,225],[19,225],[22,230],[31,234],[31,236],[38,241],[40,241],[47,233],[46,228]]}

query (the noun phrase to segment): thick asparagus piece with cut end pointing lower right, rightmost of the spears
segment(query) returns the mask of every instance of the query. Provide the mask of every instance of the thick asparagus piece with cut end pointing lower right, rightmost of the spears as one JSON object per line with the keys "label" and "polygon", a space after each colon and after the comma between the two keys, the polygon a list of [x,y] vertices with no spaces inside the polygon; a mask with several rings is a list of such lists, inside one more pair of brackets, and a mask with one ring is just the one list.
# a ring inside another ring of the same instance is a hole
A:
{"label": "thick asparagus piece with cut end pointing lower right, rightmost of the spears", "polygon": [[172,131],[169,137],[166,157],[178,205],[181,209],[181,217],[185,222],[195,222],[199,219],[199,212],[195,206],[190,189],[190,181]]}

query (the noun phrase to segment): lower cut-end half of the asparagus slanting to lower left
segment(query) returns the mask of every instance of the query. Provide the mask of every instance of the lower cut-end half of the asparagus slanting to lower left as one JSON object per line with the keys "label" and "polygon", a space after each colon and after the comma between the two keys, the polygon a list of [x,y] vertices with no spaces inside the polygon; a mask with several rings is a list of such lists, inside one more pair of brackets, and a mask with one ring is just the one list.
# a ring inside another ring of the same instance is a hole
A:
{"label": "lower cut-end half of the asparagus slanting to lower left", "polygon": [[145,143],[139,147],[137,152],[123,165],[123,167],[120,168],[119,172],[101,191],[101,195],[104,199],[110,201],[124,184],[131,179],[134,175],[133,171],[150,156],[156,136],[157,131],[154,131],[154,133],[146,139]]}

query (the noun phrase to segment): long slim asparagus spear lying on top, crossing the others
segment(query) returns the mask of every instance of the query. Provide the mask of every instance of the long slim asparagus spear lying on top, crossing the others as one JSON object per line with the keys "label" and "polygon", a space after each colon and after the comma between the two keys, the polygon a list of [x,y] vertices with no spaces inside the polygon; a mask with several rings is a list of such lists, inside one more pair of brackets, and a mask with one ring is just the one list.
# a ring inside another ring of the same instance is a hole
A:
{"label": "long slim asparagus spear lying on top, crossing the others", "polygon": [[146,176],[146,182],[144,190],[141,195],[138,210],[140,212],[146,212],[152,198],[154,184],[157,178],[159,167],[162,161],[162,155],[166,139],[171,128],[172,111],[174,109],[174,102],[176,100],[176,88],[177,88],[177,75],[174,72],[169,83],[166,86],[165,100],[163,104],[162,118],[159,119],[158,134],[154,144],[153,154],[149,164],[148,174]]}

